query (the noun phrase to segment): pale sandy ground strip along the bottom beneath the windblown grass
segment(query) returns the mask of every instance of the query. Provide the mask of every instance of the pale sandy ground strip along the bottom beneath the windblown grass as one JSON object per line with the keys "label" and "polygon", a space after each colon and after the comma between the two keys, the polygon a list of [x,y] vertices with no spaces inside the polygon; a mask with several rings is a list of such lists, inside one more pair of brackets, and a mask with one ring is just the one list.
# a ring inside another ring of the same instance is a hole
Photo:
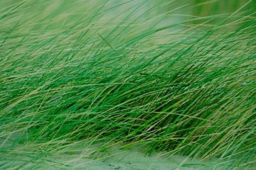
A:
{"label": "pale sandy ground strip along the bottom beneath the windblown grass", "polygon": [[[164,153],[148,157],[138,149],[112,149],[111,151],[94,154],[93,147],[77,147],[72,152],[44,155],[22,153],[2,154],[0,169],[85,169],[85,170],[191,170],[191,169],[233,169],[227,162],[218,159],[201,161],[174,155],[167,157]],[[89,156],[90,155],[90,156]],[[97,157],[97,158],[96,158]]]}

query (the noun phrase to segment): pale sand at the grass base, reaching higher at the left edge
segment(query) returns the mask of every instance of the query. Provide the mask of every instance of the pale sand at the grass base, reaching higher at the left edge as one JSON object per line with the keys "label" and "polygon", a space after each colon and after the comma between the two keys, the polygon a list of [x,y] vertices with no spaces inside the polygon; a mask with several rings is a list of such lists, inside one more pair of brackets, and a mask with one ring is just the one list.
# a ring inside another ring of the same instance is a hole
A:
{"label": "pale sand at the grass base, reaching higher at the left edge", "polygon": [[[78,170],[229,170],[238,169],[232,162],[220,159],[189,159],[180,155],[169,157],[164,152],[152,154],[151,157],[142,152],[143,147],[120,149],[124,145],[106,147],[110,142],[90,145],[82,141],[70,145],[58,152],[26,152],[24,148],[33,148],[30,145],[16,145],[13,142],[0,140],[0,169],[78,169]],[[4,145],[3,145],[4,144]],[[15,146],[16,145],[16,146]],[[109,149],[103,149],[103,148]],[[102,148],[102,149],[99,149]],[[250,170],[248,168],[247,170]]]}

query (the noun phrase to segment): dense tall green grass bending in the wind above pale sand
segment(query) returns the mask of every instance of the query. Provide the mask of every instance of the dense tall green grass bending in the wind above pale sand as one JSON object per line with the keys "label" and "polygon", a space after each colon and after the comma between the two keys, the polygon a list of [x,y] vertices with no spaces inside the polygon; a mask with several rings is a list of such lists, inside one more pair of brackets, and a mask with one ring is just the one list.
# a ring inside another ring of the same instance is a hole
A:
{"label": "dense tall green grass bending in the wind above pale sand", "polygon": [[255,1],[193,2],[1,1],[0,154],[89,140],[255,164]]}

